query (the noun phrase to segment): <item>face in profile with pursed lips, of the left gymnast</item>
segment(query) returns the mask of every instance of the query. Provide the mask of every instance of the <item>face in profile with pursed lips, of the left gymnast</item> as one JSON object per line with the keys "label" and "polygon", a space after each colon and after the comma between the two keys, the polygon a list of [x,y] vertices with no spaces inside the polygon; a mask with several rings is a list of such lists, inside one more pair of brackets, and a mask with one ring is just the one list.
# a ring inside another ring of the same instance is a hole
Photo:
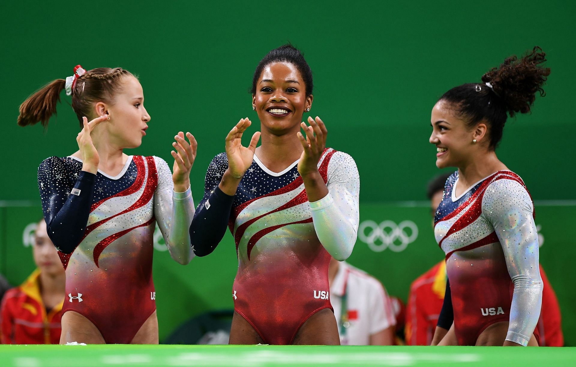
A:
{"label": "face in profile with pursed lips, of the left gymnast", "polygon": [[109,141],[121,148],[137,148],[146,135],[150,115],[144,108],[144,92],[138,79],[125,76],[122,88],[112,103],[97,103],[98,114],[108,113],[110,121],[102,123],[108,129]]}

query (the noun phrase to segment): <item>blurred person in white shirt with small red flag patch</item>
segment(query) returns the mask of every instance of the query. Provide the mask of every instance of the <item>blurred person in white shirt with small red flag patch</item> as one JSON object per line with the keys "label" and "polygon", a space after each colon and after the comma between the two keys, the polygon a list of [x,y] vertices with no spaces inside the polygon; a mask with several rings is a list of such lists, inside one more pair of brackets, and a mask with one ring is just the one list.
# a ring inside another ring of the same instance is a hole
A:
{"label": "blurred person in white shirt with small red flag patch", "polygon": [[335,258],[328,281],[341,345],[395,344],[395,310],[380,281]]}

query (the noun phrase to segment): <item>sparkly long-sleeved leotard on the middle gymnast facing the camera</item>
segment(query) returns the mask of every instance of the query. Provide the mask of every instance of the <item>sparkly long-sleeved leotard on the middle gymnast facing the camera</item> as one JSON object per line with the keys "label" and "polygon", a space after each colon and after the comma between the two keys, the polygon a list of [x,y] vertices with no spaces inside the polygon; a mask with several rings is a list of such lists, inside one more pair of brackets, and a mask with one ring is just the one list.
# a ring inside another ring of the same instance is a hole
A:
{"label": "sparkly long-sleeved leotard on the middle gymnast facing the camera", "polygon": [[194,252],[212,252],[228,224],[238,257],[234,310],[264,342],[290,344],[306,319],[332,308],[328,265],[331,256],[347,258],[356,241],[358,169],[348,154],[325,149],[319,171],[329,193],[309,203],[297,161],[275,173],[255,156],[234,196],[218,188],[226,168],[221,153],[206,173],[190,227]]}

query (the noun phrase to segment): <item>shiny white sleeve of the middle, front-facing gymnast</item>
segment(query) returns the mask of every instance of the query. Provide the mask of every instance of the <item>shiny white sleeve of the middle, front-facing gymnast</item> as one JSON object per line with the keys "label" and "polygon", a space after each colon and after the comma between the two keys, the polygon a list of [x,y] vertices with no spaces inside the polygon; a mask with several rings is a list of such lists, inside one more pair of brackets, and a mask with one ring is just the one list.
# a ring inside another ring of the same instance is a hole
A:
{"label": "shiny white sleeve of the middle, front-facing gymnast", "polygon": [[310,203],[314,230],[336,260],[350,256],[358,233],[360,177],[352,157],[336,152],[328,163],[328,195]]}

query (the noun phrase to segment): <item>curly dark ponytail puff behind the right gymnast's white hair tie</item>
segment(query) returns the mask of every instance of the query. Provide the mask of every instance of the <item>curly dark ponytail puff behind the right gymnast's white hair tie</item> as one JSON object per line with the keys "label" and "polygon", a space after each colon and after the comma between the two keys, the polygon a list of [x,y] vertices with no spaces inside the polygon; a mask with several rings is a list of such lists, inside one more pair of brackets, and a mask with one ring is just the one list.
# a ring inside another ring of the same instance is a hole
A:
{"label": "curly dark ponytail puff behind the right gymnast's white hair tie", "polygon": [[510,117],[518,112],[530,112],[536,92],[545,95],[542,85],[550,75],[550,68],[542,65],[545,57],[542,49],[536,46],[520,60],[516,56],[507,57],[498,68],[492,68],[482,76],[482,82],[490,83],[502,98]]}

